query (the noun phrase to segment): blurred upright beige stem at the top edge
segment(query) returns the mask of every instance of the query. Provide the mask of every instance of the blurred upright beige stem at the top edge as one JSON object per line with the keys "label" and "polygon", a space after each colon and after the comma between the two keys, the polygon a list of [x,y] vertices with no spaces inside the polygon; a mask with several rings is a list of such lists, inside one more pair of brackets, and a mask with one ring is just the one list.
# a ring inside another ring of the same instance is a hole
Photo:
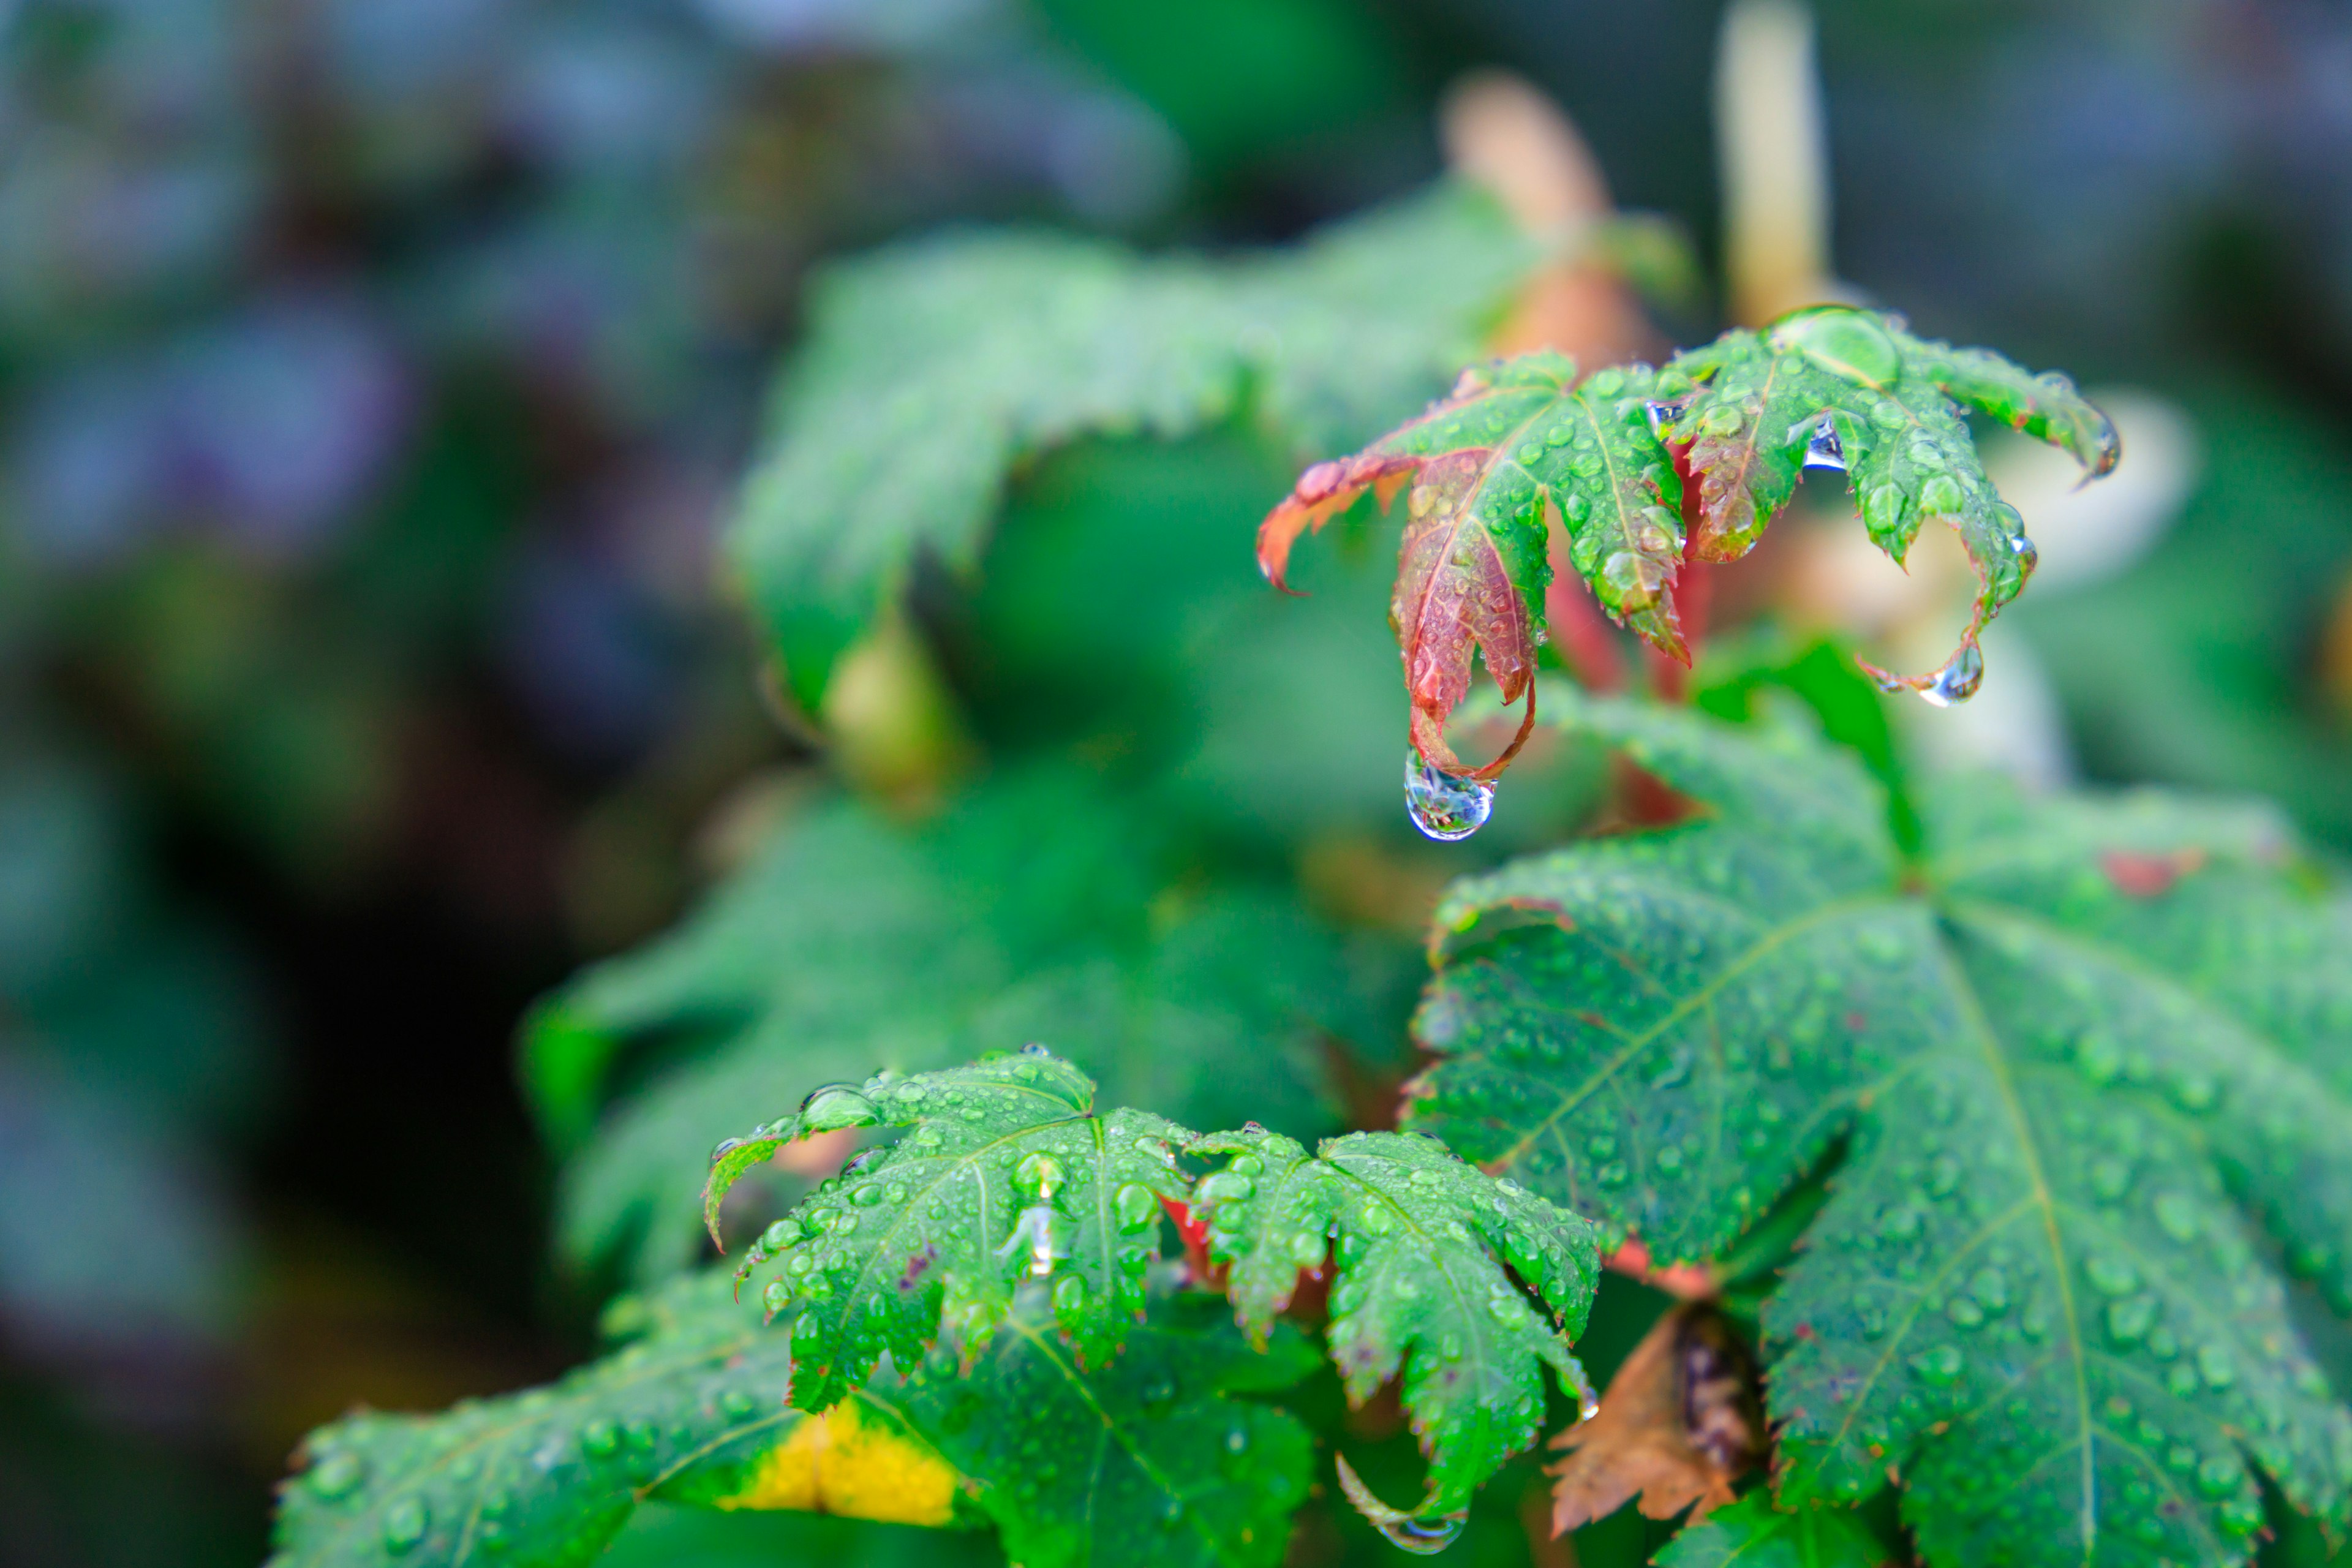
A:
{"label": "blurred upright beige stem at the top edge", "polygon": [[1759,327],[1799,306],[1853,301],[1830,270],[1830,141],[1813,12],[1797,0],[1733,0],[1724,12],[1715,143],[1731,320]]}

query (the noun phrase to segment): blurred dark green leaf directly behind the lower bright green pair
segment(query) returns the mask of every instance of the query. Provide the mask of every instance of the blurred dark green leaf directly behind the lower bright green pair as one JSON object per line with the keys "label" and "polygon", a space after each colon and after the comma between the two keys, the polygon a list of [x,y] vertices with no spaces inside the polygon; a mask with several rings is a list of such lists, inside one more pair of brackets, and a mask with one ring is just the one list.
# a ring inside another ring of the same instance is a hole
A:
{"label": "blurred dark green leaf directly behind the lower bright green pair", "polygon": [[675,933],[593,966],[534,1018],[524,1081],[560,1143],[590,1128],[623,1048],[687,1046],[574,1154],[564,1246],[593,1258],[635,1237],[633,1274],[677,1269],[696,1251],[703,1152],[741,1131],[746,1105],[1002,1041],[1042,1039],[1117,1100],[1195,1126],[1327,1126],[1319,1041],[1399,1027],[1390,966],[1350,961],[1270,889],[1157,896],[1183,875],[1174,858],[1162,870],[1164,842],[1101,783],[1054,771],[993,780],[922,830],[849,802],[811,809]]}

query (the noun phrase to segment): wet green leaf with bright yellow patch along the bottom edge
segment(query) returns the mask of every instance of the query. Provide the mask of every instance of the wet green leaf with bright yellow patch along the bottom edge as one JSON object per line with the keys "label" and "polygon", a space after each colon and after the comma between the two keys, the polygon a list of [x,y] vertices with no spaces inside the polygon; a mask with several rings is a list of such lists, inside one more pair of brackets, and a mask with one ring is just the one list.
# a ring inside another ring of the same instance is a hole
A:
{"label": "wet green leaf with bright yellow patch along the bottom edge", "polygon": [[828,1415],[786,1403],[788,1340],[724,1276],[619,1316],[642,1338],[553,1387],[315,1432],[273,1568],[572,1568],[644,1500],[995,1523],[1033,1568],[1275,1563],[1308,1488],[1305,1429],[1232,1394],[1294,1385],[1312,1352],[1251,1349],[1209,1298],[1157,1295],[1110,1371],[1025,1300],[969,1368],[917,1359]]}

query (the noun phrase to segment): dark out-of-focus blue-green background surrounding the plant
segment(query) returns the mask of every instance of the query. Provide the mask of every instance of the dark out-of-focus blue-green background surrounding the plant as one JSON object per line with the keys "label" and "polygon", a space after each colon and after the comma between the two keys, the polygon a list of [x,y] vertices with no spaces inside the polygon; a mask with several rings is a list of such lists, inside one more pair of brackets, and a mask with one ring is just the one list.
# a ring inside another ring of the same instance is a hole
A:
{"label": "dark out-of-focus blue-green background surrounding the plant", "polygon": [[[2051,569],[1917,745],[2352,849],[2352,14],[1816,16],[1837,277],[2114,388],[2131,444],[2105,501],[1994,454]],[[583,1352],[515,1027],[809,762],[713,538],[814,261],[1282,242],[1437,176],[1442,96],[1505,68],[1722,280],[1719,28],[0,0],[0,1563],[254,1563],[310,1425]],[[1943,611],[1816,555],[1780,618]]]}

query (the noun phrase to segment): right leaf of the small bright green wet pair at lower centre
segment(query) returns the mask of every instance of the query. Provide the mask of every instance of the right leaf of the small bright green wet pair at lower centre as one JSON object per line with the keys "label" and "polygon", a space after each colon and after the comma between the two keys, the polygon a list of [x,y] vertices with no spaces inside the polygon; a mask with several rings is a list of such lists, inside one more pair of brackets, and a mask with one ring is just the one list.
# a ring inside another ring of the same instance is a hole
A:
{"label": "right leaf of the small bright green wet pair at lower centre", "polygon": [[[1301,1269],[1336,1239],[1331,1359],[1348,1396],[1404,1373],[1404,1408],[1430,1455],[1418,1514],[1470,1493],[1541,1434],[1543,1368],[1590,1401],[1569,1340],[1599,1274],[1597,1232],[1517,1182],[1496,1182],[1428,1138],[1350,1133],[1315,1154],[1279,1133],[1192,1143],[1230,1154],[1200,1185],[1211,1258],[1251,1335],[1263,1338]],[[1505,1265],[1543,1300],[1538,1312]]]}

